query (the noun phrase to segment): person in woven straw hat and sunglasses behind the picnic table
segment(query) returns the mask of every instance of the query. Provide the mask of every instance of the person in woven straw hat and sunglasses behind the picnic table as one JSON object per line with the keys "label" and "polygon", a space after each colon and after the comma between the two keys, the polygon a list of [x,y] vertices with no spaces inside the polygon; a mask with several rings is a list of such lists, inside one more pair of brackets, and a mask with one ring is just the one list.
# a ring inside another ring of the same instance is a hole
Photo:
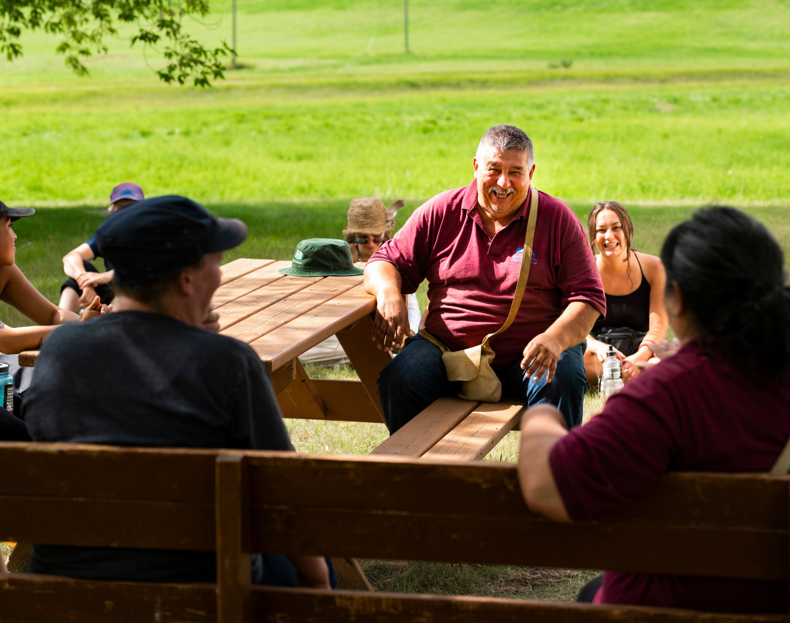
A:
{"label": "person in woven straw hat and sunglasses behind the picnic table", "polygon": [[[348,207],[348,223],[343,230],[343,235],[345,242],[348,242],[348,247],[351,249],[353,261],[367,262],[384,242],[392,238],[395,216],[404,204],[405,202],[399,199],[386,208],[384,202],[378,197],[352,199],[351,205]],[[406,306],[409,327],[412,332],[416,333],[419,330],[421,312],[415,294],[407,295]],[[299,361],[303,363],[337,363],[345,358],[345,352],[337,337],[331,336],[301,355]]]}

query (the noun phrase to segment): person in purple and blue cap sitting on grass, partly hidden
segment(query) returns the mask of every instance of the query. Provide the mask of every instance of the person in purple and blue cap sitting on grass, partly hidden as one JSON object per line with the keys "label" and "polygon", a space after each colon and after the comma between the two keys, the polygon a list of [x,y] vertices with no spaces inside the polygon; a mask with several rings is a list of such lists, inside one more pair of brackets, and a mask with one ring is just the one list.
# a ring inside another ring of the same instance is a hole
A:
{"label": "person in purple and blue cap sitting on grass, partly hidden", "polygon": [[[140,186],[132,182],[124,182],[115,186],[110,194],[110,207],[107,212],[115,214],[119,209],[134,205],[137,201],[145,199],[145,193]],[[63,272],[69,278],[60,287],[60,303],[64,310],[80,313],[81,309],[89,305],[98,295],[104,305],[109,305],[115,297],[111,281],[115,274],[112,266],[104,260],[107,268],[105,272],[96,270],[92,259],[101,257],[96,250],[94,236],[88,242],[81,244],[76,249],[63,256]]]}

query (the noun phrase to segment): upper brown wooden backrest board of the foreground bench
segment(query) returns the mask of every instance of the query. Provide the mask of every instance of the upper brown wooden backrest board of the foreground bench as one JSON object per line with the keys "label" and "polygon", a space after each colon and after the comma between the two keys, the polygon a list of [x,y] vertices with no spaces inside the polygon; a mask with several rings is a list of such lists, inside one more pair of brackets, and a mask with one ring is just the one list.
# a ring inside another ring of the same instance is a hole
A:
{"label": "upper brown wooden backrest board of the foreground bench", "polygon": [[[226,454],[0,444],[0,539],[215,550]],[[605,521],[557,524],[506,464],[243,456],[252,551],[788,580],[788,477],[671,474]]]}

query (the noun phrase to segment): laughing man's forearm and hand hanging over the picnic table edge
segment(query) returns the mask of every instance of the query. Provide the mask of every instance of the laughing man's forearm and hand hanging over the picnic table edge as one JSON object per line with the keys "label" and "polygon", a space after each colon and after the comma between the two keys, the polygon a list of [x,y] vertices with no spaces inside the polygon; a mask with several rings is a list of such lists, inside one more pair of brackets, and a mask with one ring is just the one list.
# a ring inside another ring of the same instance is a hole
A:
{"label": "laughing man's forearm and hand hanging over the picnic table edge", "polygon": [[376,317],[371,340],[389,352],[403,347],[414,335],[408,328],[408,308],[401,295],[401,275],[386,261],[374,261],[365,267],[365,291],[376,297]]}

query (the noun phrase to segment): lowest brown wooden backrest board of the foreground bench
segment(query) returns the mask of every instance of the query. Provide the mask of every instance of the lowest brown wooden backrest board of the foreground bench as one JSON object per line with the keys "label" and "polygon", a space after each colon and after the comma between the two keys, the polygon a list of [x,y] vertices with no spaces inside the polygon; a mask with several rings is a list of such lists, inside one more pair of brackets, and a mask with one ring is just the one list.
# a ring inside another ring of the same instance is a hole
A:
{"label": "lowest brown wooden backrest board of the foreground bench", "polygon": [[[213,623],[212,584],[98,582],[0,576],[0,623]],[[671,608],[591,606],[487,597],[397,595],[252,587],[250,621],[403,623],[788,623],[783,615],[705,614]],[[115,615],[115,616],[114,616]]]}

